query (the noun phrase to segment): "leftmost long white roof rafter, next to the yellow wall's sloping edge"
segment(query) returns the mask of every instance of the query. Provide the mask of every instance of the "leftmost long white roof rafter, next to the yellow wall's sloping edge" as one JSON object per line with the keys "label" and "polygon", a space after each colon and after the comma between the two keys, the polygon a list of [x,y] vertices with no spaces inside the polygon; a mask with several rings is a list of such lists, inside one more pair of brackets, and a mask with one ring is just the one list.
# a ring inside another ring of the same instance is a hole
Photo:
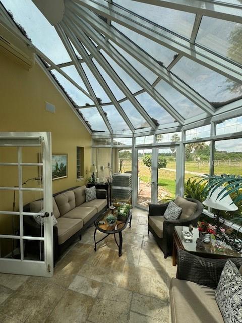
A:
{"label": "leftmost long white roof rafter, next to the yellow wall's sloping edge", "polygon": [[[68,40],[65,32],[62,30],[62,28],[60,26],[56,25],[55,30],[58,33],[59,37],[62,39],[62,42],[63,42],[64,46],[66,47],[66,49],[67,49],[67,51],[68,51],[74,65],[75,65],[75,67],[77,69],[78,74],[80,75],[81,79],[83,80],[83,82],[84,82],[85,86],[87,87],[89,93],[93,97],[93,101],[94,101],[94,103],[95,103],[95,105],[97,107],[97,110],[98,110],[100,116],[102,117],[108,131],[110,133],[112,133],[112,128],[111,128],[111,126],[110,126],[110,124],[109,124],[109,122],[108,122],[108,120],[107,120],[107,118],[106,118],[106,116],[105,116],[105,114],[104,114],[104,112],[102,110],[102,107],[99,104],[99,101],[97,100],[95,92],[94,92],[94,90],[93,90],[93,88],[92,88],[92,86],[91,86],[85,72],[83,71],[82,66],[78,63],[75,51],[74,51],[70,41]],[[76,45],[76,44],[74,44],[74,45]]]}

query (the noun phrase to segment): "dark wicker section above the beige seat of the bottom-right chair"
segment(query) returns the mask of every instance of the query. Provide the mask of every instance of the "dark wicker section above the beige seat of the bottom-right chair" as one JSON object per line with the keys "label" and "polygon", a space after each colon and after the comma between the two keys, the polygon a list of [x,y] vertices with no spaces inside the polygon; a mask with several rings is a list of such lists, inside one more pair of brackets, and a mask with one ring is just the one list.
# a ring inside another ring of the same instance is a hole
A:
{"label": "dark wicker section above the beige seat of the bottom-right chair", "polygon": [[[184,250],[177,250],[176,278],[216,289],[227,260],[203,258]],[[230,260],[237,268],[242,265],[242,258]]]}

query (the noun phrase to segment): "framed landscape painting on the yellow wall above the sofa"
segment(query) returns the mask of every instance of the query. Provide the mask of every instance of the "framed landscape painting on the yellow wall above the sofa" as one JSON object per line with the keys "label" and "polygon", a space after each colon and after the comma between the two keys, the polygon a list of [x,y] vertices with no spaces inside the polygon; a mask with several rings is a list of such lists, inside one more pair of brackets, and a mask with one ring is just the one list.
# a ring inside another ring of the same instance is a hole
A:
{"label": "framed landscape painting on the yellow wall above the sofa", "polygon": [[52,154],[52,180],[57,180],[68,176],[68,154]]}

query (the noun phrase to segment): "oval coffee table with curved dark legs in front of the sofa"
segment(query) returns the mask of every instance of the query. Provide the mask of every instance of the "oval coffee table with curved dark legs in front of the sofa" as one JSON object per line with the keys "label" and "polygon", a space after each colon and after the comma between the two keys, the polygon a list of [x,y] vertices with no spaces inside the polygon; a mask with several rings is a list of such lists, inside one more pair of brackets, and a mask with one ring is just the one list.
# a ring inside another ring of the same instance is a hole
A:
{"label": "oval coffee table with curved dark legs in front of the sofa", "polygon": [[[131,221],[132,221],[132,210],[130,210],[130,214],[127,217],[126,221],[116,221],[114,226],[109,226],[109,224],[106,222],[105,217],[108,214],[112,214],[112,210],[111,209],[107,209],[106,212],[104,212],[103,214],[100,215],[100,217],[98,217],[97,221],[95,222],[95,231],[94,231],[94,243],[95,243],[95,247],[94,250],[97,250],[97,244],[99,242],[101,242],[102,240],[104,240],[106,237],[108,237],[110,234],[114,235],[114,239],[116,242],[116,245],[118,247],[118,256],[122,256],[122,245],[123,245],[123,236],[122,236],[122,231],[125,230],[125,228],[127,227],[128,223],[130,224],[130,228],[131,228]],[[99,224],[100,221],[104,221],[105,224]],[[100,231],[103,233],[106,233],[106,236],[103,237],[102,239],[96,241],[96,232]],[[116,240],[116,236],[115,234],[118,233],[119,236],[119,244],[117,243]]]}

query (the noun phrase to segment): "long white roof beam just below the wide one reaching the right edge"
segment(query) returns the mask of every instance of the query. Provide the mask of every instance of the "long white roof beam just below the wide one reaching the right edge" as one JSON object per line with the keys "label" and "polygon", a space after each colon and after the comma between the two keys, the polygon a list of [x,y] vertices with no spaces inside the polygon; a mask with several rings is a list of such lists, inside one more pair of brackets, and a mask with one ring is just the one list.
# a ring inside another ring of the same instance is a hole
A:
{"label": "long white roof beam just below the wide one reaching the right edge", "polygon": [[[73,7],[70,6],[70,9],[73,9]],[[91,36],[92,34],[92,31],[90,30],[90,25],[91,25],[92,27],[94,27],[104,35],[107,35],[108,38],[111,39],[114,43],[116,43],[119,47],[126,50],[131,56],[133,56],[140,63],[145,65],[157,76],[160,76],[162,80],[164,80],[169,85],[174,87],[181,94],[189,98],[202,110],[206,111],[209,114],[213,114],[215,112],[215,108],[207,100],[205,100],[202,96],[200,96],[197,92],[195,92],[183,81],[180,81],[177,77],[169,73],[156,60],[152,59],[145,51],[143,51],[134,43],[132,43],[132,41],[130,41],[122,33],[118,32],[115,28],[108,26],[94,13],[91,13],[89,10],[86,10],[86,11],[87,13],[84,12],[82,18],[85,21],[87,21],[86,27],[85,27],[85,33],[88,34],[88,36]],[[75,13],[75,10],[74,10],[74,13]],[[69,14],[70,14],[69,11],[66,10],[65,16],[68,16]]]}

